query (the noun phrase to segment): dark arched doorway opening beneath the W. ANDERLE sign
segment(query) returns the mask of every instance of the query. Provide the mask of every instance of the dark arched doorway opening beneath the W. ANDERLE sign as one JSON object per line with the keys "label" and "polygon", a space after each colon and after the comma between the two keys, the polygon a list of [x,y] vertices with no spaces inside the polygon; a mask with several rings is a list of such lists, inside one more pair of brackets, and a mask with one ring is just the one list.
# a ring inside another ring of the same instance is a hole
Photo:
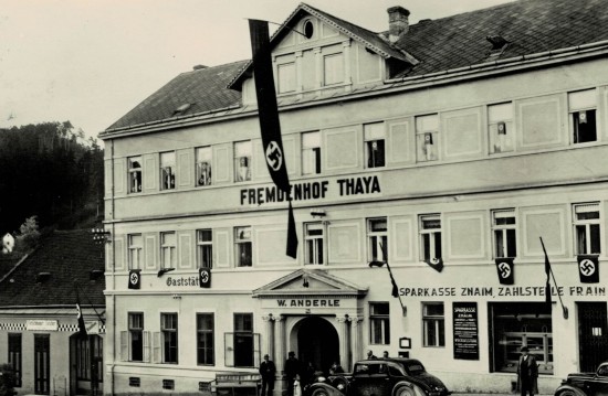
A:
{"label": "dark arched doorway opening beneath the W. ANDERLE sign", "polygon": [[319,317],[303,319],[295,331],[297,331],[297,357],[302,364],[307,365],[311,362],[316,371],[328,373],[332,363],[339,363],[338,333],[326,319]]}

